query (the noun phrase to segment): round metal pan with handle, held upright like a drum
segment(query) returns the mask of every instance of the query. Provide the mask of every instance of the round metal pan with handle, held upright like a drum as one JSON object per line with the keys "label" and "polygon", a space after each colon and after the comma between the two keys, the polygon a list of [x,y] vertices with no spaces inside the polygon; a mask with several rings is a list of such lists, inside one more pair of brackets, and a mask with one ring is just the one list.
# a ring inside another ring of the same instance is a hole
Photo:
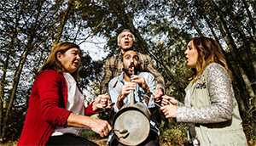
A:
{"label": "round metal pan with handle, held upright like a drum", "polygon": [[[130,103],[125,104],[113,115],[113,131],[117,140],[125,145],[138,145],[148,138],[150,132],[150,111],[148,107],[137,102],[135,104],[134,93],[130,94]],[[121,130],[128,132],[120,133]]]}

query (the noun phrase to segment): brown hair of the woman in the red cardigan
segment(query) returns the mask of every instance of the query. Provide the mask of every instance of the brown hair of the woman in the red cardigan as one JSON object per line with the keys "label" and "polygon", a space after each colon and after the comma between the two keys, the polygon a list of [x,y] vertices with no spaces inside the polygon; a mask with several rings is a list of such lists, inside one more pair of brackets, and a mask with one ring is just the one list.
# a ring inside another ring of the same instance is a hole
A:
{"label": "brown hair of the woman in the red cardigan", "polygon": [[[45,70],[55,70],[61,74],[63,74],[64,72],[67,72],[67,70],[65,70],[63,65],[61,65],[61,62],[57,59],[56,54],[59,52],[64,54],[70,48],[79,48],[79,45],[73,42],[59,42],[58,44],[56,44],[55,48],[53,48],[53,50],[51,50],[51,52],[49,53],[49,57],[47,61],[44,63],[42,68],[38,70],[38,72],[36,73],[37,76],[40,75]],[[81,50],[80,50],[80,53],[81,53]],[[76,81],[78,81],[79,70],[75,70],[71,75],[74,77]]]}

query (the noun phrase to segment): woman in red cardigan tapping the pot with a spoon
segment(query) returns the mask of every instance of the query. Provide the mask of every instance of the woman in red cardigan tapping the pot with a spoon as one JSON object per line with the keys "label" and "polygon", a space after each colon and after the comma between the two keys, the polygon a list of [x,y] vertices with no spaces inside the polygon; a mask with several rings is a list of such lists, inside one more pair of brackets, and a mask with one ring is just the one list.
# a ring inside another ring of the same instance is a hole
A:
{"label": "woman in red cardigan tapping the pot with a spoon", "polygon": [[108,94],[99,95],[87,108],[78,86],[80,48],[72,42],[58,43],[38,71],[33,83],[26,120],[18,145],[96,145],[80,138],[83,127],[107,136],[108,121],[91,118],[108,109]]}

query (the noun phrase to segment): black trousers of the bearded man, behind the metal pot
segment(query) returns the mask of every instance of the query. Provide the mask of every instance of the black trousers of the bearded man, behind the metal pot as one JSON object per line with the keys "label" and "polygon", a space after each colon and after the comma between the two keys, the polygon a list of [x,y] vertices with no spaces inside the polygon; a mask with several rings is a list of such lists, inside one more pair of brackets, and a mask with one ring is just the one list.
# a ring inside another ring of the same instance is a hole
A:
{"label": "black trousers of the bearded man, behind the metal pot", "polygon": [[[115,135],[111,138],[110,142],[108,143],[110,146],[125,146],[125,144],[120,143]],[[140,143],[138,146],[160,146],[159,137],[156,132],[150,131],[148,134],[148,138],[143,142]]]}

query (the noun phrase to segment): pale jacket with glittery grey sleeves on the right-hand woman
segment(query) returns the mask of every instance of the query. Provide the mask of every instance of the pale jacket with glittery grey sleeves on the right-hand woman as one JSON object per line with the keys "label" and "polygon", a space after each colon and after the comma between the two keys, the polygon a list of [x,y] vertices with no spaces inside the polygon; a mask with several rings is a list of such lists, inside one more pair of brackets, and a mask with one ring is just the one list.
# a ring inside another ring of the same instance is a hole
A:
{"label": "pale jacket with glittery grey sleeves on the right-hand woman", "polygon": [[201,146],[247,145],[232,81],[222,65],[208,65],[186,93],[189,89],[191,107],[178,104],[177,122],[195,123]]}

